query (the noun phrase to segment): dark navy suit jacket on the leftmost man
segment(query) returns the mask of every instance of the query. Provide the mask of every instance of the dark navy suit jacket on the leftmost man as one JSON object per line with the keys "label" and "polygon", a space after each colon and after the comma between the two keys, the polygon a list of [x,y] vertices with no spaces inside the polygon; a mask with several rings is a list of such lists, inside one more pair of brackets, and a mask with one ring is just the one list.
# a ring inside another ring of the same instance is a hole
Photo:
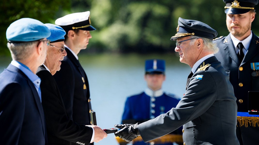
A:
{"label": "dark navy suit jacket on the leftmost man", "polygon": [[44,112],[34,84],[17,67],[0,74],[0,144],[45,145]]}

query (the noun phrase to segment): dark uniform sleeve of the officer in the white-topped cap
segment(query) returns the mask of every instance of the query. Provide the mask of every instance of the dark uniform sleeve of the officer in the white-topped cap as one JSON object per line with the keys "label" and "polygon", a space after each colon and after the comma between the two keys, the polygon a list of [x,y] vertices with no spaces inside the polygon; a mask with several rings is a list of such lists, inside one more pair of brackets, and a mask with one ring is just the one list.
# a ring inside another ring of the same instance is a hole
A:
{"label": "dark uniform sleeve of the officer in the white-topped cap", "polygon": [[68,62],[62,61],[60,67],[60,71],[57,71],[53,77],[59,88],[67,113],[70,119],[73,120],[75,78]]}

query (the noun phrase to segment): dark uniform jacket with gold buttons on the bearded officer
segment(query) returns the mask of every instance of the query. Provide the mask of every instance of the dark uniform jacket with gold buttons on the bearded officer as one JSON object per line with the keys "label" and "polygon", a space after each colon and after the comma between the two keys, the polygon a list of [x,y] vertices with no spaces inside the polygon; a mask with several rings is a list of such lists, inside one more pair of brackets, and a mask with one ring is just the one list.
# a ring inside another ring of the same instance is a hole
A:
{"label": "dark uniform jacket with gold buttons on the bearded officer", "polygon": [[[225,68],[229,81],[233,85],[238,112],[248,111],[248,91],[259,91],[259,76],[251,75],[254,70],[250,65],[250,63],[259,62],[259,38],[253,32],[252,34],[252,40],[242,62],[237,57],[230,34],[213,41],[219,47],[219,52],[214,55]],[[240,87],[239,83],[242,83],[243,86]],[[243,100],[240,101],[242,103],[239,102],[240,99]]]}

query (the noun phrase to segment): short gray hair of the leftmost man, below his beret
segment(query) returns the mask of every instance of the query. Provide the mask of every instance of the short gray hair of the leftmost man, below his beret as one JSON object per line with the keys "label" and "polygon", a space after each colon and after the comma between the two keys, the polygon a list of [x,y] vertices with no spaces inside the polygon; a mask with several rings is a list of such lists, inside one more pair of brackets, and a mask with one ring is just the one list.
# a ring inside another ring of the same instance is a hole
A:
{"label": "short gray hair of the leftmost man, below his beret", "polygon": [[7,43],[7,47],[11,52],[13,60],[26,60],[31,56],[33,48],[39,41],[22,42],[22,43]]}

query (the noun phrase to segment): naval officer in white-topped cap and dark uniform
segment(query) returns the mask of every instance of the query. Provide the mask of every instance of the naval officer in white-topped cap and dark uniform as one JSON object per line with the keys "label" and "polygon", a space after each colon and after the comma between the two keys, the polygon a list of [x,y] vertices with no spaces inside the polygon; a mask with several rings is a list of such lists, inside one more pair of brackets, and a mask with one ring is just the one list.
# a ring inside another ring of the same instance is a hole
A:
{"label": "naval officer in white-topped cap and dark uniform", "polygon": [[88,78],[77,56],[80,50],[87,48],[89,39],[92,38],[90,31],[96,30],[91,26],[90,11],[66,15],[57,19],[55,24],[66,31],[67,56],[54,78],[69,117],[78,124],[91,125]]}

